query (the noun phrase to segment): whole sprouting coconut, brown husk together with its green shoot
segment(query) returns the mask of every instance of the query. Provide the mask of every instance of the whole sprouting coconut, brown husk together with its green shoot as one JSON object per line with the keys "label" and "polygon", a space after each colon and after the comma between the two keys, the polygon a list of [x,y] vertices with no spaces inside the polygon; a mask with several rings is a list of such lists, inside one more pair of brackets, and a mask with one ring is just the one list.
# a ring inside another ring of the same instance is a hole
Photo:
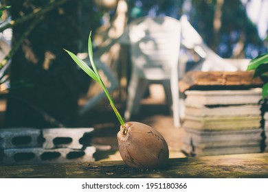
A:
{"label": "whole sprouting coconut, brown husk together with its green shoot", "polygon": [[120,131],[118,132],[118,147],[120,155],[126,165],[139,169],[154,169],[166,167],[168,165],[169,152],[168,145],[163,136],[154,128],[139,122],[124,122],[122,116],[115,108],[113,99],[109,94],[106,86],[102,82],[100,74],[93,62],[93,51],[91,43],[91,33],[89,34],[89,60],[93,70],[78,56],[70,51],[69,56],[85,71],[93,80],[102,86],[104,93],[107,95],[111,107],[120,122]]}

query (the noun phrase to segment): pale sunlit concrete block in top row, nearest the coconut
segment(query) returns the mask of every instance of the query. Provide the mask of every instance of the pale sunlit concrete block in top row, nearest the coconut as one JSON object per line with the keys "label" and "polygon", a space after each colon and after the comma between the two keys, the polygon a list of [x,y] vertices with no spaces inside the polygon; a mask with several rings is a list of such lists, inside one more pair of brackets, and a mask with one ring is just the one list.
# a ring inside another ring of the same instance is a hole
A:
{"label": "pale sunlit concrete block in top row, nearest the coconut", "polygon": [[[43,137],[45,149],[67,147],[71,149],[82,149],[87,146],[91,140],[90,135],[94,128],[45,128]],[[83,141],[83,138],[84,139]]]}

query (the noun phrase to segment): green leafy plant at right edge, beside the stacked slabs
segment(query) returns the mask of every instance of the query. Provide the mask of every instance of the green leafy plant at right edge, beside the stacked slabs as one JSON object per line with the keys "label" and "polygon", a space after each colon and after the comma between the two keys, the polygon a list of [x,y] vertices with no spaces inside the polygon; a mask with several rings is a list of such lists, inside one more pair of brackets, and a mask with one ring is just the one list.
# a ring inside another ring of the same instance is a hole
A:
{"label": "green leafy plant at right edge, beside the stacked slabs", "polygon": [[[268,36],[265,38],[268,40]],[[255,70],[254,77],[260,77],[265,84],[263,85],[263,99],[268,95],[268,53],[264,53],[249,62],[247,71]]]}

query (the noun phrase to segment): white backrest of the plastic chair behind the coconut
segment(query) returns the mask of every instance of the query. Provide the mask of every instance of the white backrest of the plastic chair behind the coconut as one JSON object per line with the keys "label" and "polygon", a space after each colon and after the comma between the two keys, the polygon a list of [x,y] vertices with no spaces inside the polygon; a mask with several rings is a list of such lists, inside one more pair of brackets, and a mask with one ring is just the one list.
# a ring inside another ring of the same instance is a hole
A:
{"label": "white backrest of the plastic chair behind the coconut", "polygon": [[181,25],[169,16],[143,17],[129,28],[131,61],[139,77],[148,80],[170,78],[170,70],[177,66]]}

